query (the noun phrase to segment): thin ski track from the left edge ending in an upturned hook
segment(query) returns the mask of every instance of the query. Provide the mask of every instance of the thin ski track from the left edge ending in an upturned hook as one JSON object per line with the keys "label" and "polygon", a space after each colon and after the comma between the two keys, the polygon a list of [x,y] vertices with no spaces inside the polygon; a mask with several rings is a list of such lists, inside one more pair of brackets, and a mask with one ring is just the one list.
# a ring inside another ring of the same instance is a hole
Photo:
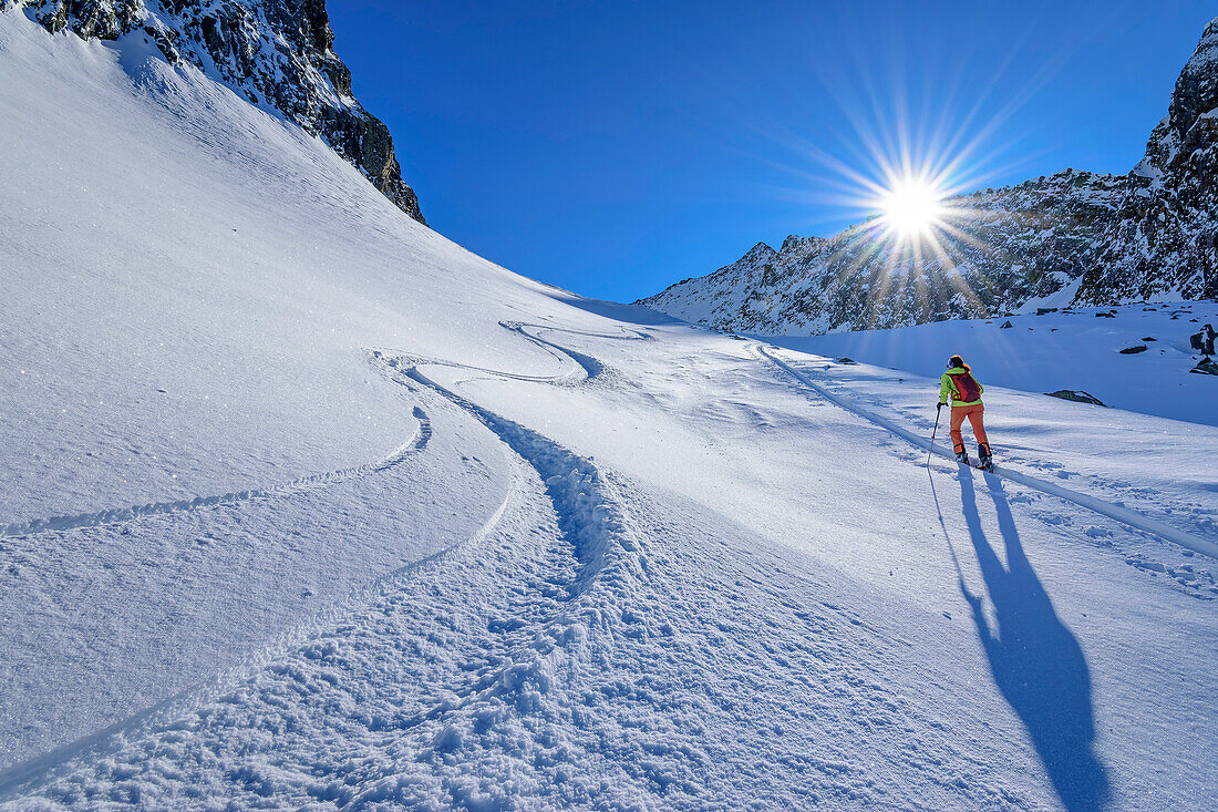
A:
{"label": "thin ski track from the left edge ending in an upturned hook", "polygon": [[337,471],[324,471],[322,473],[308,474],[292,479],[291,482],[267,488],[252,488],[248,490],[235,490],[219,496],[195,496],[194,499],[179,499],[166,502],[150,502],[147,505],[133,505],[129,507],[113,507],[93,513],[78,513],[76,516],[52,516],[50,518],[30,519],[28,522],[13,522],[0,529],[0,538],[13,538],[32,535],[34,533],[48,533],[52,530],[74,530],[84,527],[99,527],[102,524],[116,524],[130,522],[146,516],[163,516],[166,513],[180,513],[185,511],[197,511],[217,505],[230,505],[253,499],[266,499],[269,496],[287,496],[313,488],[336,485],[350,479],[364,477],[371,473],[387,471],[412,454],[428,447],[431,439],[431,419],[428,413],[414,407],[414,418],[418,422],[414,435],[395,449],[392,452],[378,460],[351,468],[339,468]]}

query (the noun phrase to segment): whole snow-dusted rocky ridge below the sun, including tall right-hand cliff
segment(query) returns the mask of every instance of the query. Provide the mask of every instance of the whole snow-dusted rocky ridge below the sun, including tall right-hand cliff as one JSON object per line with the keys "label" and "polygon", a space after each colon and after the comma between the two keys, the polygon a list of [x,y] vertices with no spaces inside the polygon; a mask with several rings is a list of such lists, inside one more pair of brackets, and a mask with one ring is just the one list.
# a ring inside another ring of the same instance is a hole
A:
{"label": "whole snow-dusted rocky ridge below the sun, including tall right-hand cliff", "polygon": [[1066,169],[945,201],[943,251],[855,226],[758,244],[639,304],[720,329],[808,335],[1038,305],[1218,296],[1218,20],[1127,176]]}

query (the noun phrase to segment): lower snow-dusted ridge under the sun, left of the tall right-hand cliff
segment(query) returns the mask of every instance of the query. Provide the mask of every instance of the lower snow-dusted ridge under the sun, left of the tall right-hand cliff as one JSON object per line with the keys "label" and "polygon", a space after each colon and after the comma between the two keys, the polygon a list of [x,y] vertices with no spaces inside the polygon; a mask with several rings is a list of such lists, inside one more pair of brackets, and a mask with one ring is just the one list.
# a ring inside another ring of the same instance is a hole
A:
{"label": "lower snow-dusted ridge under the sun, left of the tall right-hand cliff", "polygon": [[1073,295],[1123,193],[1121,178],[1063,171],[956,199],[961,215],[942,238],[945,257],[929,257],[921,268],[912,254],[877,255],[873,233],[848,228],[827,239],[788,237],[780,252],[758,245],[732,265],[642,304],[767,335],[1013,312],[1029,300]]}

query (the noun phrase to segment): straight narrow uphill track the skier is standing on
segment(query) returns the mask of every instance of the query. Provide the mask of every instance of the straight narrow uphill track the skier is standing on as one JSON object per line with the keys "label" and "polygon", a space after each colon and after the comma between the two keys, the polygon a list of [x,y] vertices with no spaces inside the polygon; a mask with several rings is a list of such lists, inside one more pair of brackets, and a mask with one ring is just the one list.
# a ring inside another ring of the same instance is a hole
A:
{"label": "straight narrow uphill track the skier is standing on", "polygon": [[[782,361],[781,358],[775,356],[773,352],[771,351],[771,347],[762,346],[761,344],[755,344],[754,346],[758,350],[758,352],[760,352],[761,356],[769,360],[772,365],[775,365],[781,371],[786,372],[792,378],[804,384],[809,389],[814,390],[816,394],[821,395],[834,406],[838,406],[848,412],[857,415],[859,417],[871,423],[875,423],[876,426],[883,429],[892,432],[896,436],[901,438],[907,443],[911,443],[912,445],[920,449],[931,450],[929,439],[915,434],[914,432],[904,428],[903,426],[899,426],[894,421],[890,421],[885,417],[882,417],[865,408],[864,406],[860,406],[853,400],[842,397],[840,395],[829,391],[827,388],[820,385],[805,373],[795,369],[795,367],[790,366],[786,361]],[[935,446],[934,451],[940,457],[945,457],[948,460],[951,460],[952,462],[955,461],[955,456],[942,445]],[[991,473],[994,475],[1010,479],[1011,482],[1019,483],[1021,485],[1026,485],[1034,490],[1039,490],[1044,494],[1049,494],[1050,496],[1057,496],[1058,499],[1065,499],[1066,501],[1073,502],[1079,507],[1085,507],[1086,510],[1094,511],[1100,516],[1107,516],[1108,518],[1116,519],[1122,524],[1127,524],[1134,528],[1135,530],[1141,530],[1144,533],[1157,535],[1161,539],[1164,539],[1167,541],[1173,541],[1188,550],[1192,550],[1194,552],[1200,552],[1202,555],[1209,556],[1211,558],[1218,558],[1218,543],[1209,541],[1208,539],[1202,539],[1200,536],[1192,535],[1191,533],[1185,533],[1184,530],[1179,530],[1174,527],[1163,524],[1162,522],[1156,522],[1155,519],[1142,516],[1141,513],[1138,513],[1135,511],[1132,511],[1128,507],[1113,505],[1101,499],[1096,499],[1095,496],[1082,494],[1077,490],[1071,490],[1069,488],[1062,488],[1061,485],[1054,484],[1051,482],[1045,482],[1044,479],[1029,477],[1028,474],[1019,473],[1018,471],[1011,471],[1010,468],[1002,468],[995,466]]]}

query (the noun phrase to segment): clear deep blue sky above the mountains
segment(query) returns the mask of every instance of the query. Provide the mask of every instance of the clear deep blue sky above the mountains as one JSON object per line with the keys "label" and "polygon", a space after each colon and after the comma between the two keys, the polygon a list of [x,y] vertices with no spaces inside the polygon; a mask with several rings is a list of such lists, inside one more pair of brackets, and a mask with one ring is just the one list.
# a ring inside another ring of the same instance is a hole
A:
{"label": "clear deep blue sky above the mountains", "polygon": [[877,152],[960,188],[1125,172],[1212,2],[329,0],[438,232],[633,300],[865,216]]}

